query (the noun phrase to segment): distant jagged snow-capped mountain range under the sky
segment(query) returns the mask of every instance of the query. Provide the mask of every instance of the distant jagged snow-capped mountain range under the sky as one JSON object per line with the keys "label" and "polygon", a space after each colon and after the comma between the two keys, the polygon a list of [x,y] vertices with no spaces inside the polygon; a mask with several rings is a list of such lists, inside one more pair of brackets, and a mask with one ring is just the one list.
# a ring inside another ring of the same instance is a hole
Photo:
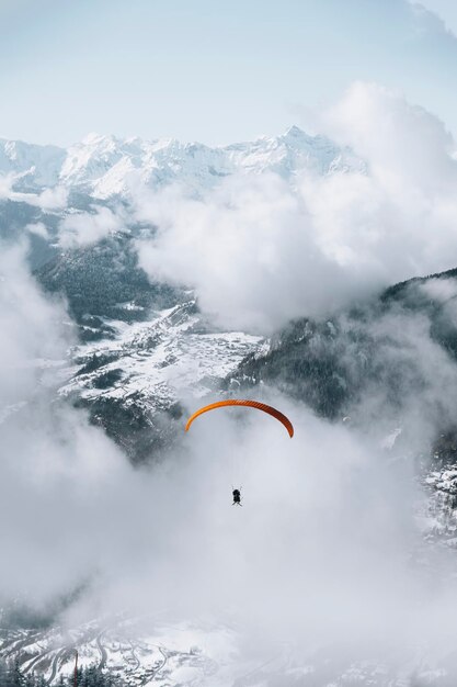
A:
{"label": "distant jagged snow-capped mountain range under the sky", "polygon": [[180,182],[202,191],[235,172],[270,170],[290,179],[304,169],[328,173],[365,165],[349,148],[297,126],[277,137],[225,147],[96,134],[68,149],[0,140],[0,174],[12,176],[18,191],[64,185],[99,199],[123,194],[139,181],[152,188]]}

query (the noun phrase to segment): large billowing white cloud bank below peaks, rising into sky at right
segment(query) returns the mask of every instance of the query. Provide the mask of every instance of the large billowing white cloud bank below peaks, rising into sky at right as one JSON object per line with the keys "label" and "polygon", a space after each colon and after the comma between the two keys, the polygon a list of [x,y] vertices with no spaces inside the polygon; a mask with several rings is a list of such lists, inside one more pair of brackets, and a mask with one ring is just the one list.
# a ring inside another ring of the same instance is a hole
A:
{"label": "large billowing white cloud bank below peaks, rising into sky at right", "polygon": [[138,244],[153,278],[196,289],[230,327],[270,331],[357,295],[457,261],[457,162],[444,125],[398,93],[355,83],[321,127],[351,145],[367,176],[230,178],[201,201],[137,193],[157,225]]}

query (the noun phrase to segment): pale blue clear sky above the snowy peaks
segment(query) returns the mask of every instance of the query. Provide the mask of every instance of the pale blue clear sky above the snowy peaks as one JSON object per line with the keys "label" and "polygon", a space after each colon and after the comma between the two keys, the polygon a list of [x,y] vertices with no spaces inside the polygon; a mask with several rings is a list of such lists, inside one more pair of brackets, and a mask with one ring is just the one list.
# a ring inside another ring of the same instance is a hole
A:
{"label": "pale blue clear sky above the snowy peaks", "polygon": [[306,128],[356,79],[457,133],[457,37],[407,0],[0,0],[2,137],[229,143]]}

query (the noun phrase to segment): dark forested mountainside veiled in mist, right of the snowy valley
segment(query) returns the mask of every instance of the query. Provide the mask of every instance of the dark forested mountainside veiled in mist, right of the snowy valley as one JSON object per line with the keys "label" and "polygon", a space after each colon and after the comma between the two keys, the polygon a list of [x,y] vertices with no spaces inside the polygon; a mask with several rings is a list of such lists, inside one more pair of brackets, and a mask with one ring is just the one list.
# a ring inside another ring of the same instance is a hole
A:
{"label": "dark forested mountainside veiled in mist, right of the snowy valley", "polygon": [[[271,339],[265,353],[243,360],[226,386],[233,380],[247,388],[272,384],[330,420],[351,415],[372,393],[381,406],[401,415],[407,399],[433,385],[427,356],[441,356],[449,367],[457,360],[457,299],[450,289],[448,297],[439,289],[434,296],[431,288],[444,280],[457,294],[453,270],[392,286],[328,320],[290,323]],[[421,350],[419,335],[430,351]],[[455,432],[446,425],[448,410],[442,408],[439,427],[446,436]]]}

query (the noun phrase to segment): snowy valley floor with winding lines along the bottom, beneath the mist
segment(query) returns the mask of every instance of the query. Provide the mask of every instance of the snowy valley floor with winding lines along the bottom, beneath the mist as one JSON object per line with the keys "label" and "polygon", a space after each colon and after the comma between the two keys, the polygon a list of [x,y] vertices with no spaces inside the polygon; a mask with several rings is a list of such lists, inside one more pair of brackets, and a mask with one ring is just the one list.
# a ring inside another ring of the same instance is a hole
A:
{"label": "snowy valley floor with winding lines along the bottom, beneath the mist", "polygon": [[[209,622],[163,626],[153,618],[94,620],[65,629],[2,630],[0,656],[20,658],[25,675],[48,685],[70,676],[75,651],[80,667],[96,666],[125,687],[439,687],[453,685],[453,656],[436,647],[411,646],[366,660],[356,650],[329,658],[319,647],[279,642],[269,654],[247,657],[232,628]],[[353,654],[353,655],[351,655]],[[443,667],[443,666],[446,667]]]}

